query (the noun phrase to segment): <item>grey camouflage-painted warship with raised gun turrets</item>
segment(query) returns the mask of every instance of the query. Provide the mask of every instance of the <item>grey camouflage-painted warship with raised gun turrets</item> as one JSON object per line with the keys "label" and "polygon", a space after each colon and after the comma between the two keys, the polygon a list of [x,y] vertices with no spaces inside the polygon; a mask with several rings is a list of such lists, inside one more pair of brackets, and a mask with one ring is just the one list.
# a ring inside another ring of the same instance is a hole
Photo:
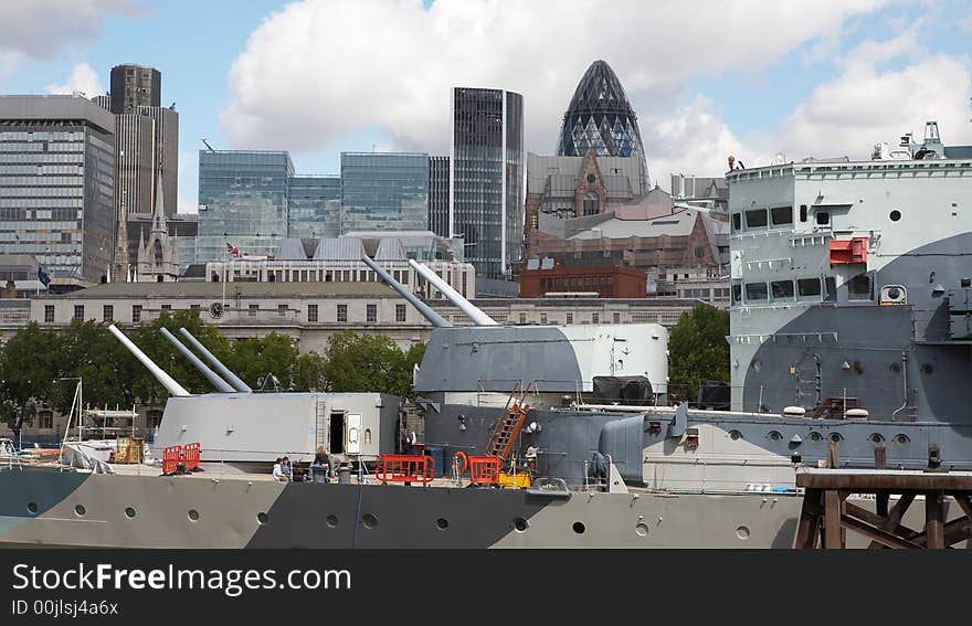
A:
{"label": "grey camouflage-painted warship with raised gun turrets", "polygon": [[[884,446],[888,467],[922,469],[934,444],[943,468],[972,469],[972,147],[929,123],[922,142],[869,160],[779,161],[727,173],[728,407],[667,405],[662,326],[500,325],[412,262],[468,317],[453,326],[366,258],[434,327],[415,458],[441,476],[380,480],[402,458],[399,399],[257,393],[183,331],[215,369],[186,349],[215,390],[192,395],[113,327],[169,390],[157,446],[198,444],[202,471],[8,463],[0,543],[790,548],[796,468],[832,442],[842,467],[871,467]],[[276,457],[319,445],[357,477],[271,479]],[[507,488],[465,479],[473,458],[500,460]]]}

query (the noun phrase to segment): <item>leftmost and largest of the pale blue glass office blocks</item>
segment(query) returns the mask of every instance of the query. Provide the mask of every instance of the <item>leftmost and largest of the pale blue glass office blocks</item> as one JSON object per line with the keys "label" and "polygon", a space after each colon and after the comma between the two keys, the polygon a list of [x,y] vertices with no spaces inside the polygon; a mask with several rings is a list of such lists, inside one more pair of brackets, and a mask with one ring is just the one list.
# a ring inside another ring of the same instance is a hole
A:
{"label": "leftmost and largest of the pale blue glass office blocks", "polygon": [[274,254],[287,236],[290,156],[283,151],[199,151],[197,263],[221,261],[226,244]]}

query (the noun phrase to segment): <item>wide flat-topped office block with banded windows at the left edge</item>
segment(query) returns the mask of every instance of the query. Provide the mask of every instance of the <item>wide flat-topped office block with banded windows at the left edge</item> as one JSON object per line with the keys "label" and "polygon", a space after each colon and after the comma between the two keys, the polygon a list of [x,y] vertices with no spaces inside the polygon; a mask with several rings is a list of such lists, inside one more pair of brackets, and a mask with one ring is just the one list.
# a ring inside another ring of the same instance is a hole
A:
{"label": "wide flat-topped office block with banded windows at the left edge", "polygon": [[29,254],[50,288],[107,276],[115,119],[78,96],[0,96],[0,253]]}

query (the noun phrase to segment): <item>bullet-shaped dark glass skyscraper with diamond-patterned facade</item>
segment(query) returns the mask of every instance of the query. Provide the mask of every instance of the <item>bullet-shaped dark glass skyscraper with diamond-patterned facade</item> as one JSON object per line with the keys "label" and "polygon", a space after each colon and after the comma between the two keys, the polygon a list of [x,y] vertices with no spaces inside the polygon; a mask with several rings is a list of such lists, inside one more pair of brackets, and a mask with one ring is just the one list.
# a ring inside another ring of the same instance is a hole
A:
{"label": "bullet-shaped dark glass skyscraper with diamond-patterned facade", "polygon": [[648,183],[648,166],[637,116],[617,75],[604,61],[594,61],[584,72],[563,114],[557,156],[583,157],[593,150],[598,157],[635,157],[641,161],[641,180]]}

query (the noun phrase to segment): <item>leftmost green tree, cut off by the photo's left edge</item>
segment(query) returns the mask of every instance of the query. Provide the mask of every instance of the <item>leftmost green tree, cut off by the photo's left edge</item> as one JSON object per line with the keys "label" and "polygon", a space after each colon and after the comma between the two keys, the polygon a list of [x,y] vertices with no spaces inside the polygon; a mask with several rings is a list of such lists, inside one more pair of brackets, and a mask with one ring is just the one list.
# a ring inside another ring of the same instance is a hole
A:
{"label": "leftmost green tree, cut off by the photo's left edge", "polygon": [[39,404],[56,389],[60,338],[32,321],[19,329],[0,350],[0,420],[30,422]]}

